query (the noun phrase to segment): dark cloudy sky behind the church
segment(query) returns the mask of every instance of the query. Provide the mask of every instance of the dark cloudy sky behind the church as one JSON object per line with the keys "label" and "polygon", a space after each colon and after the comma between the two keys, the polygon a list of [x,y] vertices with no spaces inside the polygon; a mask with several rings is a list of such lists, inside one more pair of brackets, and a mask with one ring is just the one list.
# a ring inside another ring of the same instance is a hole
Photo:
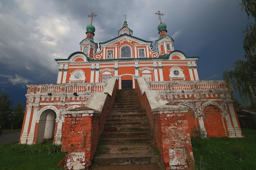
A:
{"label": "dark cloudy sky behind the church", "polygon": [[159,38],[164,13],[175,50],[200,57],[200,80],[222,80],[243,59],[243,29],[249,22],[241,0],[0,0],[0,92],[25,105],[27,84],[56,83],[58,65],[79,51],[90,13],[97,17],[94,41],[118,36],[124,14],[133,36]]}

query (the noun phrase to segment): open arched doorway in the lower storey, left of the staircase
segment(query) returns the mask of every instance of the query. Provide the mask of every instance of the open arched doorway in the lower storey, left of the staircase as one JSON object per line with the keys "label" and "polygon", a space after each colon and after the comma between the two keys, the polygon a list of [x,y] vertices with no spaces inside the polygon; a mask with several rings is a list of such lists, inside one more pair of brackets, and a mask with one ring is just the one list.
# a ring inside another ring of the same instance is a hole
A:
{"label": "open arched doorway in the lower storey, left of the staircase", "polygon": [[38,122],[36,144],[42,143],[44,139],[54,138],[55,119],[56,113],[53,110],[43,111]]}

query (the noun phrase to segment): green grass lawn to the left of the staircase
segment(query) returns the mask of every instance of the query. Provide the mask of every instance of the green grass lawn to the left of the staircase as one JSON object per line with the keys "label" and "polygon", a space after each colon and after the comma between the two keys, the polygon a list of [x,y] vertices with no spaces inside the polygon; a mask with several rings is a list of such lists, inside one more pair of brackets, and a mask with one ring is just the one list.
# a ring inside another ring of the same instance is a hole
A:
{"label": "green grass lawn to the left of the staircase", "polygon": [[[58,163],[65,157],[61,146],[51,143],[37,145],[2,144],[0,145],[0,170],[56,170]],[[64,168],[62,168],[64,170]]]}

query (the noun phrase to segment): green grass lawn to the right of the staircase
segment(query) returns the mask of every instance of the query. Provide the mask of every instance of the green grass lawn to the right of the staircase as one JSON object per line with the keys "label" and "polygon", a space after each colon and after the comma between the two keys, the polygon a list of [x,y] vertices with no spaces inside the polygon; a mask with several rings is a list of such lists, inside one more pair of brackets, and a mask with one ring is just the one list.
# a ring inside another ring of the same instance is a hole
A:
{"label": "green grass lawn to the right of the staircase", "polygon": [[242,131],[243,138],[192,138],[196,169],[255,170],[256,130]]}

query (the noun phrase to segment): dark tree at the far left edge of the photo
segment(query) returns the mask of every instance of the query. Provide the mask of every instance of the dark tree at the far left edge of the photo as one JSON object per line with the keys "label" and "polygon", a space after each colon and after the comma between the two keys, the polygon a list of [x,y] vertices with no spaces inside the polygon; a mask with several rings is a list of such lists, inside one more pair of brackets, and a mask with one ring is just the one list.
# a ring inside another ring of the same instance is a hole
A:
{"label": "dark tree at the far left edge of the photo", "polygon": [[11,114],[11,105],[13,101],[9,100],[9,96],[6,92],[0,94],[0,126],[2,128],[8,128],[9,115]]}

